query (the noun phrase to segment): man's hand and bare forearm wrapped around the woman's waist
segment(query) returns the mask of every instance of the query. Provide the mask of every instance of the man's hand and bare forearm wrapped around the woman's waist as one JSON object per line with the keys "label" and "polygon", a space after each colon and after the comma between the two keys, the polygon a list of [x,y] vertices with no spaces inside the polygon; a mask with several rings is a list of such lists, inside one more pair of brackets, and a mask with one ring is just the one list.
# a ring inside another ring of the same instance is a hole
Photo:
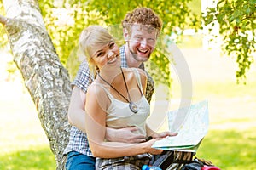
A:
{"label": "man's hand and bare forearm wrapped around the woman's waist", "polygon": [[107,128],[106,139],[111,142],[141,143],[145,142],[145,136],[138,134],[137,127],[124,127],[119,129]]}

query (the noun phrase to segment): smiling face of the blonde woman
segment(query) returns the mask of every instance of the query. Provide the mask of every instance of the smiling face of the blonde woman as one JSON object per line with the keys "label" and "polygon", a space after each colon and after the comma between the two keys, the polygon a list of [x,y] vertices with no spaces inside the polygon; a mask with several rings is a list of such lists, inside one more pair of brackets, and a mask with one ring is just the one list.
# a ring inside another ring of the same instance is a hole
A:
{"label": "smiling face of the blonde woman", "polygon": [[119,47],[111,41],[103,46],[95,47],[96,51],[92,54],[94,64],[101,70],[103,67],[110,69],[111,67],[120,66]]}

